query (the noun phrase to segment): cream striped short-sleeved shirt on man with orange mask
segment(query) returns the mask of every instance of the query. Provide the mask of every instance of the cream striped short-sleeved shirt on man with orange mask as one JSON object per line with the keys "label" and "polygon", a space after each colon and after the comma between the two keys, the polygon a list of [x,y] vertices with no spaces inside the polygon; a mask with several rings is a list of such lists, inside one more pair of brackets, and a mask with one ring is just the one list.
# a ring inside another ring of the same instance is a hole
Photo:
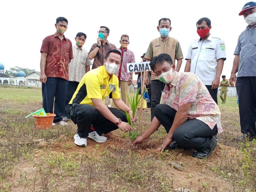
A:
{"label": "cream striped short-sleeved shirt on man with orange mask", "polygon": [[72,47],[74,58],[68,64],[69,81],[80,82],[85,74],[85,66],[92,65],[88,57],[88,51],[83,47],[80,49],[77,45]]}

